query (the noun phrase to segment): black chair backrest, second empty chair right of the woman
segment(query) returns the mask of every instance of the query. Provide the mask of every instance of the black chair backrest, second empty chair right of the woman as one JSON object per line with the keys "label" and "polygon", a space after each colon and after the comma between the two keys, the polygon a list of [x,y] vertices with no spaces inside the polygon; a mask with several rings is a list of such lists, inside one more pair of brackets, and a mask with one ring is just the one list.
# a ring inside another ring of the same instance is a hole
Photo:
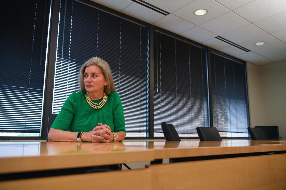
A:
{"label": "black chair backrest, second empty chair right of the woman", "polygon": [[222,140],[215,127],[197,127],[200,140]]}

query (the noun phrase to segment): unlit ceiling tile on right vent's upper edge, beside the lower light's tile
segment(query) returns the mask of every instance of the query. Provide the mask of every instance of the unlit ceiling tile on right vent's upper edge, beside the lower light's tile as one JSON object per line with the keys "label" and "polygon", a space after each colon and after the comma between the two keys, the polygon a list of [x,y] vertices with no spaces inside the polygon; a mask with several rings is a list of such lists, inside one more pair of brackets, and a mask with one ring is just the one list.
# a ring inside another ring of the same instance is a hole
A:
{"label": "unlit ceiling tile on right vent's upper edge, beside the lower light's tile", "polygon": [[253,24],[250,24],[240,29],[223,34],[221,37],[238,44],[265,35],[267,35],[267,32],[259,29]]}

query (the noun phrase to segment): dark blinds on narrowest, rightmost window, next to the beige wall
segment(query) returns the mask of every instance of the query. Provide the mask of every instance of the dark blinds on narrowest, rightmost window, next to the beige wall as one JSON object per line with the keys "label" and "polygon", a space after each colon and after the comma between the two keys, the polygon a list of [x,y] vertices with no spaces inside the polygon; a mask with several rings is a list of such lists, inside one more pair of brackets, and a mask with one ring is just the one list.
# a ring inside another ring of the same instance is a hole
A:
{"label": "dark blinds on narrowest, rightmost window, next to the beige wall", "polygon": [[211,69],[214,127],[220,132],[248,133],[245,64],[211,53]]}

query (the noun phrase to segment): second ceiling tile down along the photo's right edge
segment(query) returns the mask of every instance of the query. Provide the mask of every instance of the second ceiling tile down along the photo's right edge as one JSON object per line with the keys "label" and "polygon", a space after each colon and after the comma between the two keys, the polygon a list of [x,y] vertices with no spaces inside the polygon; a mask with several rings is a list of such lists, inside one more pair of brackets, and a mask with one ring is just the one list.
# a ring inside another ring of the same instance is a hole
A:
{"label": "second ceiling tile down along the photo's right edge", "polygon": [[273,33],[282,29],[286,29],[286,11],[278,15],[265,18],[264,20],[260,20],[254,24],[261,29],[267,31],[268,33]]}

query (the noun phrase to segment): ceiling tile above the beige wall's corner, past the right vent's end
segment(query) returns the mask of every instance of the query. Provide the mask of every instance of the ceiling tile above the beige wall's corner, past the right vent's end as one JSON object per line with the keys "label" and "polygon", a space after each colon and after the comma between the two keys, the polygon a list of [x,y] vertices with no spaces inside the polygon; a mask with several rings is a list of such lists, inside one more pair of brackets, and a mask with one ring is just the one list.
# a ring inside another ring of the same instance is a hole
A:
{"label": "ceiling tile above the beige wall's corner, past the right vent's end", "polygon": [[251,62],[255,65],[265,65],[265,64],[274,62],[268,58],[265,58],[263,56],[258,55],[257,53],[254,53],[254,52],[243,53],[243,54],[240,54],[240,55],[235,56],[235,57],[242,59],[244,61],[247,61],[247,62]]}

